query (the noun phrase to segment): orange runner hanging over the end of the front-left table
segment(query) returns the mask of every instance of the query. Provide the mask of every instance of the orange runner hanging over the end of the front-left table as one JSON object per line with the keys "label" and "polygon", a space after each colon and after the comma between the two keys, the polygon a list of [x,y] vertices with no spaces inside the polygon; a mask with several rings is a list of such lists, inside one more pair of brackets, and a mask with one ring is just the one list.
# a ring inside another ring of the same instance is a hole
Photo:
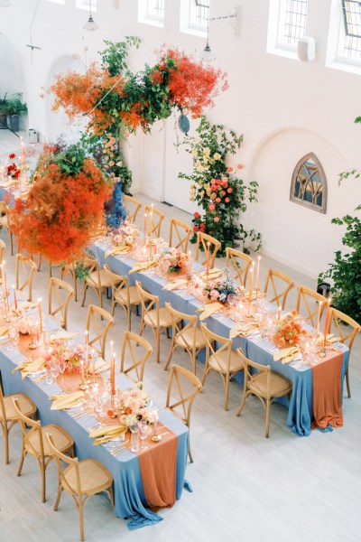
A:
{"label": "orange runner hanging over the end of the front-left table", "polygon": [[[168,428],[158,424],[158,432]],[[170,431],[162,441],[138,453],[145,498],[153,511],[171,508],[176,500],[177,435]]]}

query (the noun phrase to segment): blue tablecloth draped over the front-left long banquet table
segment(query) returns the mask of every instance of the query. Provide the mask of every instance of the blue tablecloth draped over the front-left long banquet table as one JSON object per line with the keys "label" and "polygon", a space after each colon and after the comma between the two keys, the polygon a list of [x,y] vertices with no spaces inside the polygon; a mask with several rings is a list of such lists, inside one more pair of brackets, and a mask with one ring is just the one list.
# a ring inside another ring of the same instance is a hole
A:
{"label": "blue tablecloth draped over the front-left long banquet table", "polygon": [[[88,428],[95,424],[95,418],[89,414],[79,419],[69,416],[65,410],[51,410],[50,396],[60,388],[49,385],[45,380],[34,382],[31,378],[21,378],[20,371],[12,373],[16,365],[24,359],[19,350],[7,351],[5,347],[0,350],[0,371],[5,395],[22,391],[26,393],[38,406],[39,417],[42,424],[58,424],[73,436],[75,452],[79,459],[94,458],[102,463],[114,478],[115,511],[119,518],[127,518],[129,528],[139,528],[151,525],[162,518],[148,507],[143,490],[143,481],[138,456],[125,451],[114,457],[104,445],[93,444],[88,436]],[[129,388],[129,379],[123,375],[116,376],[117,388]],[[188,458],[188,428],[170,412],[159,409],[160,422],[166,425],[172,433],[177,435],[177,463],[176,463],[176,499],[180,499]],[[161,444],[150,445],[158,446]],[[14,451],[12,452],[14,456]],[[146,452],[145,452],[146,453]]]}

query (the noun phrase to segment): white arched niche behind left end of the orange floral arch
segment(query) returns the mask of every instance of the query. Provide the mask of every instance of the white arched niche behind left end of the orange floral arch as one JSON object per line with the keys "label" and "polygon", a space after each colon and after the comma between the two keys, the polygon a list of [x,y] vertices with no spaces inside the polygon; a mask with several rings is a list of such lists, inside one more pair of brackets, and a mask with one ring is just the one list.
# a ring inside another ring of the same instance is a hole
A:
{"label": "white arched niche behind left end of the orange floral arch", "polygon": [[[54,82],[55,77],[60,73],[67,71],[78,71],[85,73],[86,66],[77,56],[62,55],[53,61],[48,72],[46,87],[49,88]],[[60,136],[68,143],[74,143],[79,140],[79,133],[87,126],[87,120],[75,121],[69,123],[68,117],[63,111],[52,110],[52,97],[46,96],[46,125],[47,125],[47,141],[56,141]]]}

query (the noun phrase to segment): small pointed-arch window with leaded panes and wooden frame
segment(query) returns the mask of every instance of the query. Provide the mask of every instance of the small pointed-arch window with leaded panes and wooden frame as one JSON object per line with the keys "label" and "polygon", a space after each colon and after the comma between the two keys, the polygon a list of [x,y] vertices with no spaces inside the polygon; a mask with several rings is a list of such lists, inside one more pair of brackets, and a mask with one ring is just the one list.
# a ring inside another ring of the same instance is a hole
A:
{"label": "small pointed-arch window with leaded panes and wooden frame", "polygon": [[316,154],[306,154],[294,168],[290,200],[326,213],[326,175]]}

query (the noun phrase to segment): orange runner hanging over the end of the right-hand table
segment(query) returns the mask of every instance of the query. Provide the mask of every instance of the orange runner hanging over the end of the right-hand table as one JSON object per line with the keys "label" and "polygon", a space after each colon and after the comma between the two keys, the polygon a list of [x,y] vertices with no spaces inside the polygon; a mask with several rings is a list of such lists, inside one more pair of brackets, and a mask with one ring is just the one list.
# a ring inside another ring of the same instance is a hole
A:
{"label": "orange runner hanging over the end of the right-hand table", "polygon": [[342,427],[341,371],[342,352],[327,356],[325,360],[312,367],[313,416],[312,429],[327,425]]}

